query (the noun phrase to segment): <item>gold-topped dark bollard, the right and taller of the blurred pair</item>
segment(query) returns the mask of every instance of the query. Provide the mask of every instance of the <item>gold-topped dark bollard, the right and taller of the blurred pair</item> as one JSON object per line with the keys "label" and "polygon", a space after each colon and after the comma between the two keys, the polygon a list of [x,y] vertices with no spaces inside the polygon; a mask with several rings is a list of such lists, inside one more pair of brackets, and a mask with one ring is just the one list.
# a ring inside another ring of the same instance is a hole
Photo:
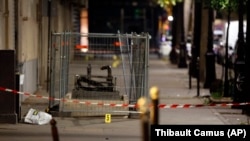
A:
{"label": "gold-topped dark bollard, the right and taller of the blurred pair", "polygon": [[158,125],[159,124],[159,89],[158,87],[152,87],[150,89],[150,97],[152,106],[150,107],[150,119],[151,125]]}

